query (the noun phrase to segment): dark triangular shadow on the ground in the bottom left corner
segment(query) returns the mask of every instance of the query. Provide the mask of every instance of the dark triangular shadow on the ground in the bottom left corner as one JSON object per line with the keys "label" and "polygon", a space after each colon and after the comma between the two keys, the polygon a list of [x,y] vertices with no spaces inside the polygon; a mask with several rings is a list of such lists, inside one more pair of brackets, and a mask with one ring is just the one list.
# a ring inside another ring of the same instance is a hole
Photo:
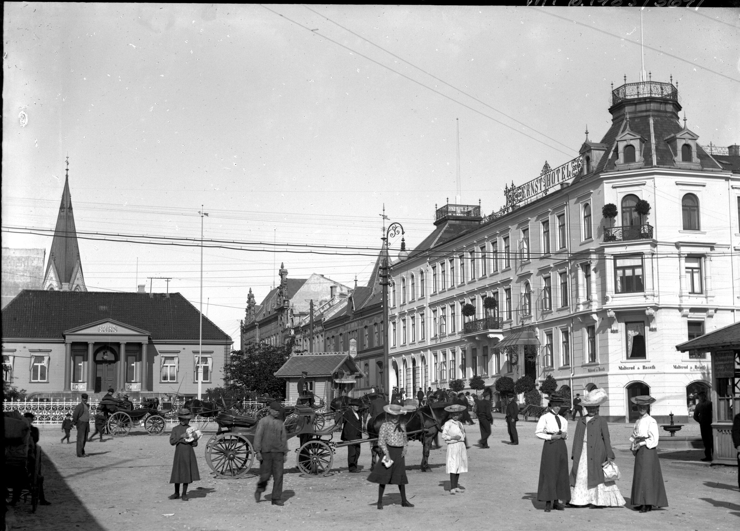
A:
{"label": "dark triangular shadow on the ground in the bottom left corner", "polygon": [[44,476],[44,495],[51,505],[39,505],[36,513],[31,513],[30,503],[8,507],[5,515],[8,529],[106,531],[75,496],[45,453],[41,457],[41,475]]}

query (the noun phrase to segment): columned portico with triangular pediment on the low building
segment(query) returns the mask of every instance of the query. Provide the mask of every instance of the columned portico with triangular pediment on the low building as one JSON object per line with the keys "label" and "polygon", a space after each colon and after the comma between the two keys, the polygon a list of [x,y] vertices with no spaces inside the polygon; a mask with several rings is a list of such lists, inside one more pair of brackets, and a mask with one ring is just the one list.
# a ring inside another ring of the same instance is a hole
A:
{"label": "columned portico with triangular pediment on the low building", "polygon": [[103,319],[64,332],[64,390],[100,393],[107,388],[149,388],[149,332]]}

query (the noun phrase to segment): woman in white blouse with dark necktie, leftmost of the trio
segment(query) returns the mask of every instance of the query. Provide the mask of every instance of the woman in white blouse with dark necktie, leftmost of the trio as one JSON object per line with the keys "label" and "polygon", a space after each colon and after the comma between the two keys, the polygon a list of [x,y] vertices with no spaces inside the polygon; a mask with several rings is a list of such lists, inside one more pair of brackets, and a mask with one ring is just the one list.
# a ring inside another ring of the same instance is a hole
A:
{"label": "woman in white blouse with dark necktie, leftmost of the trio", "polygon": [[548,411],[539,417],[534,434],[545,441],[542,445],[542,459],[539,462],[539,484],[537,500],[545,501],[545,513],[565,510],[558,500],[571,499],[571,485],[568,480],[568,421],[558,413],[565,402],[561,396],[550,396]]}

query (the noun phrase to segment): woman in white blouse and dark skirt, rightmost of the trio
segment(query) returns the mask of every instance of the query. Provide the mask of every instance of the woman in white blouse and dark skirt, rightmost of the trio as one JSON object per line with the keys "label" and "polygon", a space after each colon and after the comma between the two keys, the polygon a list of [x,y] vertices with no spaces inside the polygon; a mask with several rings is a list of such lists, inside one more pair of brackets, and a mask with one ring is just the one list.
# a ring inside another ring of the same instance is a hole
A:
{"label": "woman in white blouse and dark skirt, rightmost of the trio", "polygon": [[663,474],[658,459],[658,423],[647,414],[652,396],[633,396],[640,418],[635,422],[632,432],[632,453],[635,456],[635,471],[632,477],[632,504],[640,513],[647,513],[653,507],[668,507],[665,496]]}

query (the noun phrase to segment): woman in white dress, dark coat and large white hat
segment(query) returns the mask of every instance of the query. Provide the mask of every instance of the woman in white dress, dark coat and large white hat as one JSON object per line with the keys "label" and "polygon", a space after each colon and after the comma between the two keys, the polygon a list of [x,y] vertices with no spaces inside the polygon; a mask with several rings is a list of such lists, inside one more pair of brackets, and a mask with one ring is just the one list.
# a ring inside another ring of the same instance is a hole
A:
{"label": "woman in white dress, dark coat and large white hat", "polygon": [[606,390],[594,389],[586,393],[581,405],[588,416],[576,423],[573,437],[573,469],[571,470],[571,503],[568,507],[622,507],[625,498],[614,481],[605,481],[603,464],[614,460],[609,427],[599,416],[599,405],[608,399]]}

